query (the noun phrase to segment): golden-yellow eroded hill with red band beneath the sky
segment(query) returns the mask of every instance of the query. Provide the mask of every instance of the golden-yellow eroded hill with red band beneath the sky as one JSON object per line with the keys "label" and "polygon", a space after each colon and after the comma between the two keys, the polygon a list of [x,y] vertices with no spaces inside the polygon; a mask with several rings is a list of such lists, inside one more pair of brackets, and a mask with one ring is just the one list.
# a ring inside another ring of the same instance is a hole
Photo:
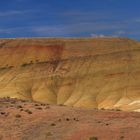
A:
{"label": "golden-yellow eroded hill with red band beneath the sky", "polygon": [[1,39],[0,97],[140,111],[139,62],[126,38]]}

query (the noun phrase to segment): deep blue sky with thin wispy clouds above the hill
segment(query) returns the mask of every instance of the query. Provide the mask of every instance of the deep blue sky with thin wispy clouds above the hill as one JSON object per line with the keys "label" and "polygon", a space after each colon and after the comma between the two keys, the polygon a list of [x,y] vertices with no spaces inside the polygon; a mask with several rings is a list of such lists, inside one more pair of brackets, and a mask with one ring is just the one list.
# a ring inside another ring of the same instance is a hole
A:
{"label": "deep blue sky with thin wispy clouds above the hill", "polygon": [[140,40],[140,0],[1,0],[0,38],[120,36]]}

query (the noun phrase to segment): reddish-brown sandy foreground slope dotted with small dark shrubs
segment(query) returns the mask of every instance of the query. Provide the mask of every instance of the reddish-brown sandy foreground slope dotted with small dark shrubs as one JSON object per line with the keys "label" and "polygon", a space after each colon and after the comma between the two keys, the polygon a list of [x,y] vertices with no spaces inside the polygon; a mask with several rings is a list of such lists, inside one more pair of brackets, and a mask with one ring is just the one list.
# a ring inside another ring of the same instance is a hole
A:
{"label": "reddish-brown sandy foreground slope dotted with small dark shrubs", "polygon": [[0,140],[96,139],[140,140],[140,113],[0,99]]}

